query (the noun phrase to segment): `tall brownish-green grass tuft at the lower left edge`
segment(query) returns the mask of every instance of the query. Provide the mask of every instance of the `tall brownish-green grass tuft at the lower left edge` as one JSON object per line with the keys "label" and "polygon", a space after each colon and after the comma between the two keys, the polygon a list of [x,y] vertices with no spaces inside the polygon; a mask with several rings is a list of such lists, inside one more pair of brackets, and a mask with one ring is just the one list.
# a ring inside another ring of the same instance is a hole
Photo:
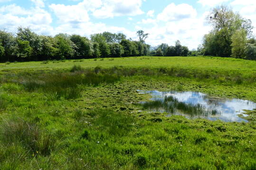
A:
{"label": "tall brownish-green grass tuft at the lower left edge", "polygon": [[5,119],[0,128],[0,140],[5,144],[22,144],[32,153],[43,156],[49,155],[54,148],[54,138],[28,121]]}

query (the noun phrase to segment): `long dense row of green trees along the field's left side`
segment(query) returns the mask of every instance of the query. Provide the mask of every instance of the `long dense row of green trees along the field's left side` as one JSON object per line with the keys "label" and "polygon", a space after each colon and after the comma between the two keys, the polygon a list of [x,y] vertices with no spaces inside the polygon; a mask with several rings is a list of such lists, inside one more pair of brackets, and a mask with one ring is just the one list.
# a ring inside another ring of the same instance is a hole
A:
{"label": "long dense row of green trees along the field's left side", "polygon": [[127,39],[124,34],[104,32],[87,37],[57,34],[38,35],[29,28],[19,27],[17,34],[0,30],[0,61],[37,61],[51,59],[89,59],[147,55],[148,34],[137,32],[140,41]]}

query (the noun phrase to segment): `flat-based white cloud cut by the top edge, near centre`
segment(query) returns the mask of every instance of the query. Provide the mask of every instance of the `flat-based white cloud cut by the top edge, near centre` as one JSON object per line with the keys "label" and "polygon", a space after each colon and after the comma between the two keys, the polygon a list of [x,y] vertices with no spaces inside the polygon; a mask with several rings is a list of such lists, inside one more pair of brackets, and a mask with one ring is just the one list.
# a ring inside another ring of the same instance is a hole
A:
{"label": "flat-based white cloud cut by the top edge, near centre", "polygon": [[102,0],[103,6],[94,11],[98,18],[116,16],[136,16],[143,14],[141,10],[142,0]]}

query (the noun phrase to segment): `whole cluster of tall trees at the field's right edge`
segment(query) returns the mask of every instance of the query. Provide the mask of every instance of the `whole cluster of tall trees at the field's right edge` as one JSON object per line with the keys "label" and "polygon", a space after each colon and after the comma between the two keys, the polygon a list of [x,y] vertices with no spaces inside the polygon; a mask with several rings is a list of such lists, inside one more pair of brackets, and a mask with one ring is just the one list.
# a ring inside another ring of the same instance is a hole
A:
{"label": "whole cluster of tall trees at the field's right edge", "polygon": [[213,29],[204,36],[199,54],[256,60],[256,39],[250,19],[222,5],[213,8],[207,20]]}

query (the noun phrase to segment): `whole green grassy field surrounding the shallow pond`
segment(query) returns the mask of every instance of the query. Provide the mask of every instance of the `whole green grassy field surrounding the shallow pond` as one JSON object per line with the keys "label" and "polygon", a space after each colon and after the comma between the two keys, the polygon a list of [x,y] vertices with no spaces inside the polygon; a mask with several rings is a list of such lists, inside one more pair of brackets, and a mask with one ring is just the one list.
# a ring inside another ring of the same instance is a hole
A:
{"label": "whole green grassy field surrounding the shallow pond", "polygon": [[248,123],[166,117],[142,110],[150,96],[136,90],[256,102],[256,61],[0,63],[0,170],[256,170],[256,111]]}

